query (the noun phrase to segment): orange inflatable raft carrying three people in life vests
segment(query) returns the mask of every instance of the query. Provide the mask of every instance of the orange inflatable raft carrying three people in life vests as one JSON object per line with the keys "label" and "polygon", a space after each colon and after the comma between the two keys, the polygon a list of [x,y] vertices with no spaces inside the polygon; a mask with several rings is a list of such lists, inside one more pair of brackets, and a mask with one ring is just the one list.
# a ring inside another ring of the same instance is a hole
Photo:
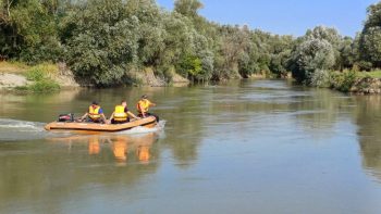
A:
{"label": "orange inflatable raft carrying three people in life vests", "polygon": [[155,116],[148,116],[132,121],[125,124],[96,124],[96,123],[76,123],[76,122],[52,122],[45,126],[46,130],[88,130],[88,131],[121,131],[128,130],[138,126],[153,127],[157,121]]}

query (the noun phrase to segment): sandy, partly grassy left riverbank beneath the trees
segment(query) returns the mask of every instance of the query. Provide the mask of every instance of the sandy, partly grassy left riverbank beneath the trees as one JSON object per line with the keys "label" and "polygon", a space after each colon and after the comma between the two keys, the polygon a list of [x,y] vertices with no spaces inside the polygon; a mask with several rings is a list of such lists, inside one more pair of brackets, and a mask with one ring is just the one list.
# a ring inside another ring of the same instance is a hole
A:
{"label": "sandy, partly grassy left riverbank beneath the trees", "polygon": [[[171,80],[155,75],[147,67],[140,72],[131,71],[132,86],[187,86],[189,80],[171,73]],[[28,66],[20,62],[0,62],[0,90],[50,91],[79,87],[94,87],[86,80],[77,80],[73,72],[64,63],[41,63]]]}

